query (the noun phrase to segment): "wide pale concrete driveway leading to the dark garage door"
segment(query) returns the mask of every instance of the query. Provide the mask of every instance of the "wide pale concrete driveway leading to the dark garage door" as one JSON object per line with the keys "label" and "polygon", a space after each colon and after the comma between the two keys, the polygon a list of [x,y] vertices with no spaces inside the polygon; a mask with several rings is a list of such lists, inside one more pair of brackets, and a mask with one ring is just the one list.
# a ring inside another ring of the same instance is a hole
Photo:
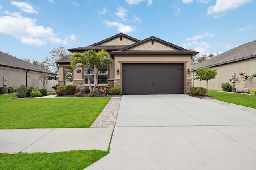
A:
{"label": "wide pale concrete driveway leading to the dark garage door", "polygon": [[110,154],[86,169],[256,169],[256,114],[187,95],[123,95]]}

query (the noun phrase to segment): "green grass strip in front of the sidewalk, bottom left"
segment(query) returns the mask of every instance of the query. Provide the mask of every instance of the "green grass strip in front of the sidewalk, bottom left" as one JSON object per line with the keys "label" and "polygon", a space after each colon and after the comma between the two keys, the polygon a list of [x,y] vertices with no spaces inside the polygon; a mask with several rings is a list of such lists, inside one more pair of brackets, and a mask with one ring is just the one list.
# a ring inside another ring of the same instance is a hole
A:
{"label": "green grass strip in front of the sidewalk, bottom left", "polygon": [[72,150],[54,153],[0,154],[1,170],[82,170],[109,151]]}

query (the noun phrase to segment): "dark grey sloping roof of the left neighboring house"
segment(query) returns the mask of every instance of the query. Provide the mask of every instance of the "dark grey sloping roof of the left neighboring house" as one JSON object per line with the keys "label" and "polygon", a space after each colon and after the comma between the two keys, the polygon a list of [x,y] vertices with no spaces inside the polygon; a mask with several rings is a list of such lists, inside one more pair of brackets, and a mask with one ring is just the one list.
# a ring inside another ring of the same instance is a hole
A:
{"label": "dark grey sloping roof of the left neighboring house", "polygon": [[48,71],[46,69],[43,69],[41,67],[38,67],[36,65],[33,65],[31,63],[28,63],[26,61],[23,61],[21,59],[18,59],[16,57],[13,57],[12,55],[8,55],[3,52],[0,52],[0,58],[0,65],[2,67],[10,67],[14,69],[22,69],[27,71],[35,71],[40,73],[57,75],[56,73],[53,73],[51,71]]}

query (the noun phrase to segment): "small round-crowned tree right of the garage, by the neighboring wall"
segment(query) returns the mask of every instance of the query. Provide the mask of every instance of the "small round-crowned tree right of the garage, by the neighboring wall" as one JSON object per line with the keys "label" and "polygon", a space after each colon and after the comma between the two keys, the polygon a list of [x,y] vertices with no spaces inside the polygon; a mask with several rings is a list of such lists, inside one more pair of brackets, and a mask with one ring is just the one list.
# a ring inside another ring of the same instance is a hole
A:
{"label": "small round-crowned tree right of the garage, by the neighboring wall", "polygon": [[217,75],[217,69],[211,69],[209,67],[201,67],[196,69],[195,76],[197,77],[195,78],[195,80],[206,81],[206,89],[207,89],[206,95],[208,95],[208,80],[215,79],[216,75]]}

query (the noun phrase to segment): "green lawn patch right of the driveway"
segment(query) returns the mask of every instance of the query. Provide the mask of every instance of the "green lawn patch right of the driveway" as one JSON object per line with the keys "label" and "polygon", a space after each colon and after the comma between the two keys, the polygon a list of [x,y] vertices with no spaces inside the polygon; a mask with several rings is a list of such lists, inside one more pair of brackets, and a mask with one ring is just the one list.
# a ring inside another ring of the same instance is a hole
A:
{"label": "green lawn patch right of the driveway", "polygon": [[208,95],[214,96],[212,99],[256,109],[256,95],[247,95],[243,93],[224,93],[217,90],[208,90]]}

